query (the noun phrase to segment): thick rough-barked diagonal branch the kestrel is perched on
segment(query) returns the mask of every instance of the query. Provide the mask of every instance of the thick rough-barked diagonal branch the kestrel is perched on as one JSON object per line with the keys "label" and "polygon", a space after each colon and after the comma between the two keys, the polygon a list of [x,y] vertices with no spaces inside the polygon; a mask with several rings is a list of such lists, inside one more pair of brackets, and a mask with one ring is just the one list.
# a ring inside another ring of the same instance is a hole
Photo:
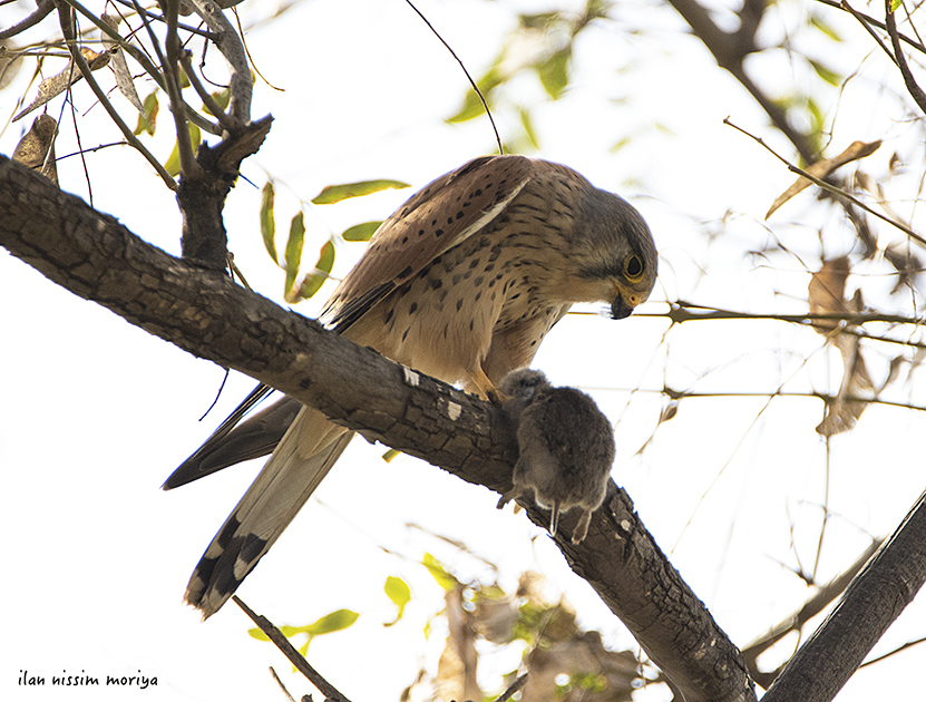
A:
{"label": "thick rough-barked diagonal branch the kestrel is perched on", "polygon": [[[201,358],[238,370],[371,439],[501,493],[517,456],[504,412],[326,332],[146,244],[115,218],[0,156],[0,245],[81,298]],[[532,520],[546,527],[534,506]],[[563,519],[571,533],[575,515]],[[667,562],[616,486],[573,569],[636,636],[686,702],[750,702],[742,656]]]}

